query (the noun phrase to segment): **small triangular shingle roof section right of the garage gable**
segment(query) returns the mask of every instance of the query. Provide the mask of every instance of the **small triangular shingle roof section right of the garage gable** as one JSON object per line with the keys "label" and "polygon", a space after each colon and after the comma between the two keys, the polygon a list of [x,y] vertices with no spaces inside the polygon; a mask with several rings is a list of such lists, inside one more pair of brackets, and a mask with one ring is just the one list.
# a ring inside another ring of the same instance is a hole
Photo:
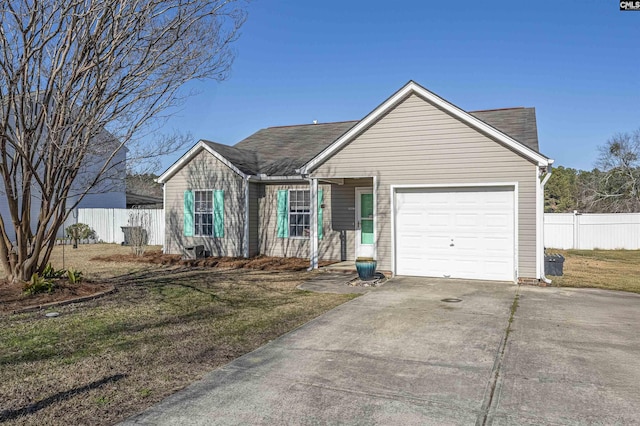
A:
{"label": "small triangular shingle roof section right of the garage gable", "polygon": [[470,111],[469,114],[506,133],[538,152],[538,127],[535,108],[503,108]]}

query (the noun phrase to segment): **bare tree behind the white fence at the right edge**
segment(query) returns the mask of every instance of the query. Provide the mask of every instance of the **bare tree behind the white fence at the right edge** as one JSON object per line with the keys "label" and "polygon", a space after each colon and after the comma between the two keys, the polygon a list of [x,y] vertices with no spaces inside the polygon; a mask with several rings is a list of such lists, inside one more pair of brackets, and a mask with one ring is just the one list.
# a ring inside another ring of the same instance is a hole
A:
{"label": "bare tree behind the white fence at the right edge", "polygon": [[590,209],[640,212],[640,129],[616,134],[599,151],[598,170],[586,186]]}

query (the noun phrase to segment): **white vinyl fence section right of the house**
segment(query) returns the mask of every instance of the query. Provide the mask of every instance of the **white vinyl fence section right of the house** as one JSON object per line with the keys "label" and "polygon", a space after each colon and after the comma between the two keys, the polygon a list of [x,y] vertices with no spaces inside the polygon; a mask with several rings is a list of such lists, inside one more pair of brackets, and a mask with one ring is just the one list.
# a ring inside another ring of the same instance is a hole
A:
{"label": "white vinyl fence section right of the house", "polygon": [[640,213],[545,213],[544,246],[556,249],[640,249]]}

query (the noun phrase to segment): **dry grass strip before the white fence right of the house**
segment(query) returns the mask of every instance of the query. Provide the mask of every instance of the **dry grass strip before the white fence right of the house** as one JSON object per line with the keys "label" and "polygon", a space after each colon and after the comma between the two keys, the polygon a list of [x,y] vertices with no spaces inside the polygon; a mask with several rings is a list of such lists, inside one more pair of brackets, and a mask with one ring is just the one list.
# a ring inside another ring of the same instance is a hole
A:
{"label": "dry grass strip before the white fence right of the house", "polygon": [[640,293],[640,250],[548,250],[565,256],[560,287],[591,287]]}

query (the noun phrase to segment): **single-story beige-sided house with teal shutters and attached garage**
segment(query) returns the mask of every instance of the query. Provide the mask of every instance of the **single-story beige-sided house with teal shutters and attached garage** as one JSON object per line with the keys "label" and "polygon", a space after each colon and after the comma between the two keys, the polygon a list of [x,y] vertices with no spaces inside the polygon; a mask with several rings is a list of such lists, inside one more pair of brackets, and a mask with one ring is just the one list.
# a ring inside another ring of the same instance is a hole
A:
{"label": "single-story beige-sided house with teal shutters and attached garage", "polygon": [[410,81],[359,121],[198,142],[158,178],[164,250],[539,280],[552,163],[533,108],[466,112]]}

